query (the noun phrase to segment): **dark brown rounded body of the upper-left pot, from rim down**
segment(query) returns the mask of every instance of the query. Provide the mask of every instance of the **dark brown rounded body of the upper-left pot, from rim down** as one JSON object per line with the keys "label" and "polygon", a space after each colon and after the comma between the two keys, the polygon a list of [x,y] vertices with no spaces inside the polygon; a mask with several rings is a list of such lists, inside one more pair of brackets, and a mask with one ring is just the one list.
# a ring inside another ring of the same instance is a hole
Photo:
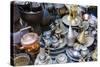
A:
{"label": "dark brown rounded body of the upper-left pot, from rim down", "polygon": [[42,17],[43,17],[43,11],[39,12],[20,12],[21,13],[21,18],[28,23],[28,25],[33,25],[33,24],[38,24],[42,22]]}

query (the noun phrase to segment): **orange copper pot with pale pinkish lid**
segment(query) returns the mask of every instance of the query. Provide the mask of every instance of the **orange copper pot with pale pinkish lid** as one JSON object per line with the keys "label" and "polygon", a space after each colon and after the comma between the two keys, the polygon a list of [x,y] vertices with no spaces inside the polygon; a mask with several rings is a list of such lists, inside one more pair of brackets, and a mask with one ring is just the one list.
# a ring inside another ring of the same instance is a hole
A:
{"label": "orange copper pot with pale pinkish lid", "polygon": [[22,47],[20,49],[25,49],[26,52],[32,55],[37,54],[40,49],[39,37],[36,33],[27,33],[21,38]]}

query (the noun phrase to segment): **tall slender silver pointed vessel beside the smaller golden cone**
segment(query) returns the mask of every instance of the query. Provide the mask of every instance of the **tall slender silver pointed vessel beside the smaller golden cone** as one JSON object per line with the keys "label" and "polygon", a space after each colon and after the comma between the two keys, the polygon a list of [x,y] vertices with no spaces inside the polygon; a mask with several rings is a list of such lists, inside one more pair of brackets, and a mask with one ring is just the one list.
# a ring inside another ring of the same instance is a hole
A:
{"label": "tall slender silver pointed vessel beside the smaller golden cone", "polygon": [[74,36],[74,32],[72,30],[72,27],[69,26],[69,32],[68,32],[68,46],[73,46],[75,42],[75,36]]}

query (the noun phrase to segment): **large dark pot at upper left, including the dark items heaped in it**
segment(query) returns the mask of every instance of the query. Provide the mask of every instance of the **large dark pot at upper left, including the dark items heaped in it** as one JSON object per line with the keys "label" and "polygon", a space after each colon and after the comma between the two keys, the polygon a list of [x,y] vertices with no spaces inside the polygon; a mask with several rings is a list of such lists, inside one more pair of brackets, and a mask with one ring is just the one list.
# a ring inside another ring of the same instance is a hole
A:
{"label": "large dark pot at upper left, including the dark items heaped in it", "polygon": [[30,2],[25,5],[19,5],[18,7],[21,18],[27,22],[28,25],[38,24],[42,21],[43,10],[41,4]]}

